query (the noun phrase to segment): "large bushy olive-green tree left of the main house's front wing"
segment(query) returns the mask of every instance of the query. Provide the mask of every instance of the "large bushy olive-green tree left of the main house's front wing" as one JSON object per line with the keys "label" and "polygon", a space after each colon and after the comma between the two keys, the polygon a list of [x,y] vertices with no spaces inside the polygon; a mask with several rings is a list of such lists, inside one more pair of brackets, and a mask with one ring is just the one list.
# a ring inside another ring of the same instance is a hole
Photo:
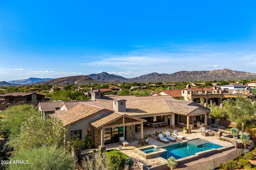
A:
{"label": "large bushy olive-green tree left of the main house's front wing", "polygon": [[29,148],[43,146],[57,146],[64,148],[64,140],[68,133],[68,127],[62,127],[63,123],[55,117],[31,116],[26,122],[21,123],[21,133],[9,139],[6,143],[14,149],[14,154]]}

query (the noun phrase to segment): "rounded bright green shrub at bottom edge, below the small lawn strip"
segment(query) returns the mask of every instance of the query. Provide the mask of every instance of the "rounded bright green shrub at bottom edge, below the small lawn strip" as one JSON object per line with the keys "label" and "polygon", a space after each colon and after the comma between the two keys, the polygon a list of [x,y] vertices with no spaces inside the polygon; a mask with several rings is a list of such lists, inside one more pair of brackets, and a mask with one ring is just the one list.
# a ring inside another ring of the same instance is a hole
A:
{"label": "rounded bright green shrub at bottom edge, below the small lawn strip", "polygon": [[119,170],[120,168],[124,168],[125,158],[120,151],[113,150],[112,152],[107,152],[107,162],[109,169]]}

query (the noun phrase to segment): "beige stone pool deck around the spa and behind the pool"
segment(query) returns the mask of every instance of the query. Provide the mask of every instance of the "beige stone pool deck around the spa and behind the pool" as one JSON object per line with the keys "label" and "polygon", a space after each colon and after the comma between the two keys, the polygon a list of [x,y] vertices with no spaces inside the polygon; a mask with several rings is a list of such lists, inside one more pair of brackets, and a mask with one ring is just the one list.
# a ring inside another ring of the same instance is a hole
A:
{"label": "beige stone pool deck around the spa and behind the pool", "polygon": [[[155,131],[160,132],[160,131],[166,131],[166,130],[168,130],[171,134],[173,134],[174,130],[177,130],[179,135],[182,135],[182,136],[185,137],[185,140],[178,140],[177,139],[176,142],[170,142],[168,144],[164,144],[160,141],[157,141],[156,137],[154,135]],[[140,138],[140,132],[138,132],[135,135],[136,139],[134,139],[132,141],[128,141],[128,143],[129,143],[128,147],[122,147],[121,152],[125,153],[126,155],[128,155],[130,157],[135,158],[136,160],[139,160],[139,161],[143,162],[146,165],[154,166],[153,163],[154,164],[165,164],[166,159],[164,159],[160,156],[157,156],[155,158],[150,158],[150,159],[144,159],[141,156],[139,156],[138,154],[136,154],[134,152],[134,149],[145,147],[145,146],[150,146],[150,145],[156,145],[158,147],[163,147],[163,146],[168,146],[168,145],[174,145],[174,144],[177,144],[177,143],[187,142],[188,140],[196,139],[196,138],[201,138],[201,139],[210,141],[212,143],[222,145],[224,147],[232,147],[233,146],[229,142],[221,141],[219,139],[219,137],[215,137],[215,136],[204,137],[204,136],[202,136],[201,135],[201,130],[197,129],[196,127],[194,129],[192,129],[192,133],[190,133],[190,134],[183,133],[183,131],[180,127],[176,127],[175,129],[170,129],[169,127],[163,127],[163,128],[158,128],[158,129],[153,129],[153,128],[150,128],[150,127],[144,127],[144,136],[148,135],[148,134],[150,134],[149,142],[148,142],[149,145],[142,146],[142,145],[138,144],[138,138]],[[118,149],[119,150],[119,144],[118,143],[108,144],[108,145],[106,145],[106,148],[107,148],[107,150],[108,149]]]}

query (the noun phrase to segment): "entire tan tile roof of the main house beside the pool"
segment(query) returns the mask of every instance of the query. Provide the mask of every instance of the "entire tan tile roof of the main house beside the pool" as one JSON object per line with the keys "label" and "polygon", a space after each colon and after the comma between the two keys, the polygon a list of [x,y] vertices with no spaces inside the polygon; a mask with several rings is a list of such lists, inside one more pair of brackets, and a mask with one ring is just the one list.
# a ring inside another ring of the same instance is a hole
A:
{"label": "entire tan tile roof of the main house beside the pool", "polygon": [[[113,100],[126,100],[126,111],[116,113],[113,109]],[[101,127],[118,117],[125,116],[143,116],[156,115],[160,113],[176,113],[188,115],[196,109],[201,109],[207,113],[210,109],[194,102],[173,100],[170,96],[104,96],[96,101],[79,102],[70,110],[57,110],[53,116],[58,117],[64,125],[72,124],[84,119],[90,115],[96,114],[102,110],[109,111],[110,114],[94,122],[94,127]],[[139,119],[136,117],[136,119]]]}

